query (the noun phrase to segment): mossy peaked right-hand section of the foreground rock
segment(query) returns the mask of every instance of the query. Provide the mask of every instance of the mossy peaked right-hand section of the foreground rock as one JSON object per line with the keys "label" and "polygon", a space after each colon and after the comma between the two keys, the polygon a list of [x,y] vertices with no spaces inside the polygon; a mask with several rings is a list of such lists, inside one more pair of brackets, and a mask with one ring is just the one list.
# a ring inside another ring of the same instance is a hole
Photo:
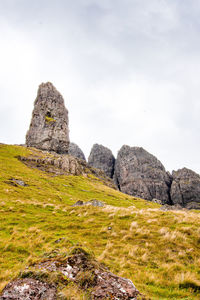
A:
{"label": "mossy peaked right-hand section of the foreground rock", "polygon": [[81,248],[60,262],[47,259],[37,265],[36,269],[59,272],[83,290],[90,289],[91,299],[136,300],[140,294],[131,280],[114,275],[100,265]]}

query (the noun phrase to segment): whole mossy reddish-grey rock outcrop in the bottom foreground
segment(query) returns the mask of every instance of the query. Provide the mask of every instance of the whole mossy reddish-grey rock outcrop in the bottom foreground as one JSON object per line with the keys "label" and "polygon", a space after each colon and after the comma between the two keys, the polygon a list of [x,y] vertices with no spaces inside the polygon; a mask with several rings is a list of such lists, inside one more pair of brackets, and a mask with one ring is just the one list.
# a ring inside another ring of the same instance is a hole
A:
{"label": "whole mossy reddish-grey rock outcrop in the bottom foreground", "polygon": [[[39,275],[43,280],[35,279]],[[49,278],[51,278],[51,285],[45,282]],[[69,281],[87,292],[89,299],[93,300],[137,300],[137,296],[145,299],[131,280],[109,272],[81,248],[72,250],[72,254],[66,257],[54,255],[53,258],[46,258],[32,264],[21,273],[21,278],[10,282],[3,289],[0,299],[60,299],[62,289],[69,285]],[[58,297],[59,289],[60,297]]]}

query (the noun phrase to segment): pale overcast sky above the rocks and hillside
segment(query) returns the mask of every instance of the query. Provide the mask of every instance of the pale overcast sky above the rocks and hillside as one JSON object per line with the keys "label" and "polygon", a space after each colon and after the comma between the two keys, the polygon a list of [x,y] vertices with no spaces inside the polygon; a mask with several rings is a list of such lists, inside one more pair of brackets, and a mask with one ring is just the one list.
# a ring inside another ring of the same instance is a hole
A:
{"label": "pale overcast sky above the rocks and hillside", "polygon": [[200,173],[199,0],[0,0],[0,142],[24,143],[38,85],[70,139],[141,146]]}

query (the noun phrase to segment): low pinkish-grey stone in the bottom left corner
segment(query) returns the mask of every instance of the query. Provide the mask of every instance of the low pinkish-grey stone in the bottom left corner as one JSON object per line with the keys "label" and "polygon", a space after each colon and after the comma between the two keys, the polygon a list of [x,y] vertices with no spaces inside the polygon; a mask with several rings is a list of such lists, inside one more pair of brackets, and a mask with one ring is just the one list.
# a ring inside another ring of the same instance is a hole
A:
{"label": "low pinkish-grey stone in the bottom left corner", "polygon": [[6,285],[0,300],[55,300],[56,285],[33,278],[16,279]]}

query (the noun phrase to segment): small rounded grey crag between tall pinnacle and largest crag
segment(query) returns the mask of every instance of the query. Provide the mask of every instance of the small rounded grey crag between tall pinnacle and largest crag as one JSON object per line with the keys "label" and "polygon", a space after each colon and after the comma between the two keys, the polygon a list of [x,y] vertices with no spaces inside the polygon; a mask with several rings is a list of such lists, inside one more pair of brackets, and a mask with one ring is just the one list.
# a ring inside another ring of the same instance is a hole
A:
{"label": "small rounded grey crag between tall pinnacle and largest crag", "polygon": [[88,164],[93,168],[104,171],[108,177],[113,177],[115,158],[110,149],[94,144],[88,158]]}

